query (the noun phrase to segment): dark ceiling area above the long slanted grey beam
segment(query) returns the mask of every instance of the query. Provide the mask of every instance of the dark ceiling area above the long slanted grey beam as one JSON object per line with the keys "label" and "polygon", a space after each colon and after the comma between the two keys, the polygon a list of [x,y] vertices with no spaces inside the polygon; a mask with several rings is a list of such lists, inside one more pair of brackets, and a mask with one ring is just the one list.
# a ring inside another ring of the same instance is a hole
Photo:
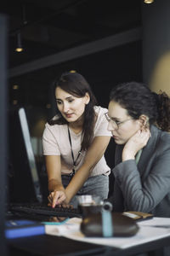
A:
{"label": "dark ceiling area above the long slanted grey beam", "polygon": [[[141,0],[15,0],[9,17],[9,68],[141,25]],[[24,51],[14,51],[20,32]]]}

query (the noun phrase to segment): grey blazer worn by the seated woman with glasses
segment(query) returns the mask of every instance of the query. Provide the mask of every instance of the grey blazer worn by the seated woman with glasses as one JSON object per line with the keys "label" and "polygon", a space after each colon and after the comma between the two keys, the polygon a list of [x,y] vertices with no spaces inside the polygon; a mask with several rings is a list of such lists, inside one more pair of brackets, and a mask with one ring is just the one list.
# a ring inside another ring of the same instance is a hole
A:
{"label": "grey blazer worn by the seated woman with glasses", "polygon": [[122,162],[123,145],[116,146],[110,199],[115,212],[151,212],[157,217],[170,217],[170,134],[154,125],[150,132],[138,166],[135,160]]}

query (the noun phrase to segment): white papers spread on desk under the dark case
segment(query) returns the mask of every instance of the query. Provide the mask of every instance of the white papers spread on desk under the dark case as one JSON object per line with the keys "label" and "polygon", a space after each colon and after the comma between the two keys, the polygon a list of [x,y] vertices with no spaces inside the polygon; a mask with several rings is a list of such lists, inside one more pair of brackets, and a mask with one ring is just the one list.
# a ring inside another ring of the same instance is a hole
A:
{"label": "white papers spread on desk under the dark case", "polygon": [[139,222],[139,232],[135,236],[111,238],[85,237],[80,231],[81,221],[81,218],[71,218],[63,225],[46,225],[46,234],[54,236],[65,236],[66,238],[77,241],[85,241],[119,248],[133,247],[148,241],[155,241],[157,239],[170,236],[170,228],[164,229],[151,226],[151,224],[157,225],[158,223],[170,224],[170,218],[152,218],[150,220],[141,221]]}

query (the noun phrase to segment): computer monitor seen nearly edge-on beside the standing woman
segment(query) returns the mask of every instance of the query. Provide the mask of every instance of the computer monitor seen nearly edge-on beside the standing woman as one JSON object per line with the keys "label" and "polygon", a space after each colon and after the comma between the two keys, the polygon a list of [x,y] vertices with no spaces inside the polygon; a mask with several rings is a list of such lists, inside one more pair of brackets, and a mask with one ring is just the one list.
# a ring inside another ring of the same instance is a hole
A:
{"label": "computer monitor seen nearly edge-on beside the standing woman", "polygon": [[8,111],[8,202],[42,202],[24,108]]}

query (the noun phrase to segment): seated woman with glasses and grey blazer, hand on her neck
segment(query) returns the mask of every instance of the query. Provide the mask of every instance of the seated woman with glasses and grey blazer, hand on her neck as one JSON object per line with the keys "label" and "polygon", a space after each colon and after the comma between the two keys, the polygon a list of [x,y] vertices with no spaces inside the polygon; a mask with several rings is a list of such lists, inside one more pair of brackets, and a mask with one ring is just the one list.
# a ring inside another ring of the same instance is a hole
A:
{"label": "seated woman with glasses and grey blazer, hand on her neck", "polygon": [[118,84],[105,116],[116,143],[113,210],[170,217],[170,98],[137,82]]}

